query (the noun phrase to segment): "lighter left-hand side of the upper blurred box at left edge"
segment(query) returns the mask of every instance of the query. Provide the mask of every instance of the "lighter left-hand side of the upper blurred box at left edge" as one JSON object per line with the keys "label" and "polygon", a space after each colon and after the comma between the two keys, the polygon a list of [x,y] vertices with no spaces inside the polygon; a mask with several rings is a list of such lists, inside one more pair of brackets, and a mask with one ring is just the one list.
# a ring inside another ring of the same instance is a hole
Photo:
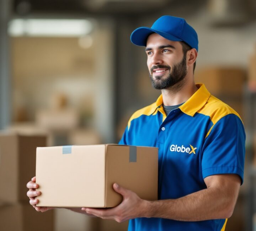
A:
{"label": "lighter left-hand side of the upper blurred box at left edge", "polygon": [[0,202],[13,203],[18,200],[17,155],[17,136],[0,135]]}

